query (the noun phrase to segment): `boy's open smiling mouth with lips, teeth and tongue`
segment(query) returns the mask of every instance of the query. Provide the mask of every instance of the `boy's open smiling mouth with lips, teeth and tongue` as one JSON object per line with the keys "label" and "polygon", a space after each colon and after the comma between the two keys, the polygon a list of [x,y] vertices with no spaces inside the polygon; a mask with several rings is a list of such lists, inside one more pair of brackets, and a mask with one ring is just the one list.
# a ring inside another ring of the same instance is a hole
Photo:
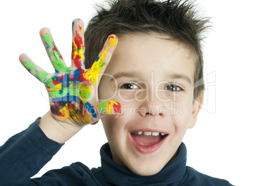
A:
{"label": "boy's open smiling mouth with lips, teeth and tongue", "polygon": [[159,131],[131,131],[129,138],[132,145],[144,154],[155,152],[159,149],[168,135]]}

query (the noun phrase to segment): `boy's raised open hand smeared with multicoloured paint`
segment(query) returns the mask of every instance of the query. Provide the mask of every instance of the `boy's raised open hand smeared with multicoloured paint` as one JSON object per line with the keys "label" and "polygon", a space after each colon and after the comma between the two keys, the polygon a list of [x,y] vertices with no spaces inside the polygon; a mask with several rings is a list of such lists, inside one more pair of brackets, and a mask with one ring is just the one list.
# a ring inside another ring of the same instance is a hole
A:
{"label": "boy's raised open hand smeared with multicoloured paint", "polygon": [[96,91],[111,55],[117,45],[117,36],[108,37],[103,49],[90,69],[85,69],[83,21],[73,21],[71,67],[67,67],[55,45],[49,29],[41,29],[40,36],[55,73],[48,74],[25,54],[20,62],[39,81],[45,84],[53,117],[59,121],[83,126],[95,124],[104,114],[120,114],[118,102],[98,102]]}

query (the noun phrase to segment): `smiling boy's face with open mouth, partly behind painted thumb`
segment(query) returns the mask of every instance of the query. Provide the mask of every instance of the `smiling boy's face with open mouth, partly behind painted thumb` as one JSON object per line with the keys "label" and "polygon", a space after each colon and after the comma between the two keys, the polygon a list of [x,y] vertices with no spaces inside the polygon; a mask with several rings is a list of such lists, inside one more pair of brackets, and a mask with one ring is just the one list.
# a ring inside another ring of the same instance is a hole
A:
{"label": "smiling boy's face with open mouth, partly behind painted thumb", "polygon": [[99,99],[119,102],[124,115],[103,117],[104,130],[113,161],[138,175],[154,175],[175,156],[187,128],[196,123],[200,107],[193,103],[194,57],[167,36],[118,39]]}

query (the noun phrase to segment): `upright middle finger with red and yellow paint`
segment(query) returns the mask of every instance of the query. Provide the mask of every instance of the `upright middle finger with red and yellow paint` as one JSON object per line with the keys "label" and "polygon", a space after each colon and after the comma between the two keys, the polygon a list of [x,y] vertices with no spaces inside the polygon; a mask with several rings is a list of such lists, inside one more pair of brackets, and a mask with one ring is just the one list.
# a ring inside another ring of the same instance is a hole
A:
{"label": "upright middle finger with red and yellow paint", "polygon": [[84,23],[80,19],[73,20],[72,23],[72,55],[71,55],[71,69],[85,69],[85,39],[83,36]]}

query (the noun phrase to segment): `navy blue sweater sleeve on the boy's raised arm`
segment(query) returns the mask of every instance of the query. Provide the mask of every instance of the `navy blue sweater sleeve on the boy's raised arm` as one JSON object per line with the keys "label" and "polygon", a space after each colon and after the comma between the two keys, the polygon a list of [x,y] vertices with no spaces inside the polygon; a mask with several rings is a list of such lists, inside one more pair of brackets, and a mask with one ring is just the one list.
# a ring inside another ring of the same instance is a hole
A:
{"label": "navy blue sweater sleeve on the boy's raised arm", "polygon": [[27,185],[62,147],[47,138],[39,119],[0,147],[0,185]]}

